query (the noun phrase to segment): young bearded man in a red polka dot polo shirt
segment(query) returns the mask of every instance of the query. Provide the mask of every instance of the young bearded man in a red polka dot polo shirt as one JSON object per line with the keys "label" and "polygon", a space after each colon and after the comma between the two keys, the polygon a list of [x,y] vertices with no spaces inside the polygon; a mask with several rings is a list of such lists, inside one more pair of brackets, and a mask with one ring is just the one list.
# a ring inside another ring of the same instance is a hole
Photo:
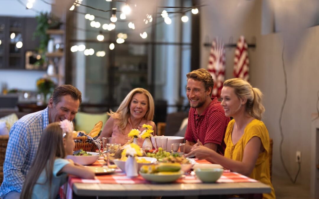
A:
{"label": "young bearded man in a red polka dot polo shirt", "polygon": [[204,68],[187,75],[186,95],[190,109],[185,132],[185,153],[200,141],[205,147],[224,155],[225,131],[230,121],[216,97],[211,98],[214,81]]}

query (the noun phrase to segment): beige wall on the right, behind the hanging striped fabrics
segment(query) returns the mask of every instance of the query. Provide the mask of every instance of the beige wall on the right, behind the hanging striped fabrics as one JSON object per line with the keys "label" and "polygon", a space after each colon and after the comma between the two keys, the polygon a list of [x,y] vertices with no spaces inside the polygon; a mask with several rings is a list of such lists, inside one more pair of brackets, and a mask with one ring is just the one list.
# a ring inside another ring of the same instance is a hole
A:
{"label": "beige wall on the right, behind the hanging striped fabrics", "polygon": [[[279,114],[284,100],[284,74],[282,68],[283,41],[286,41],[284,60],[287,71],[288,96],[283,112],[282,128],[284,134],[283,158],[288,171],[294,178],[298,165],[296,151],[301,151],[301,170],[296,184],[309,188],[310,179],[310,125],[311,113],[316,112],[317,92],[319,90],[319,26],[298,31],[291,37],[284,33],[271,32],[274,17],[263,6],[264,0],[255,1],[211,1],[211,5],[201,9],[201,67],[207,68],[209,48],[203,46],[207,38],[211,41],[222,36],[225,43],[233,37],[235,43],[244,35],[248,43],[256,37],[256,48],[249,48],[250,82],[264,94],[266,124],[273,145],[273,175],[288,181],[279,157]],[[286,2],[285,8],[291,4]],[[295,7],[296,4],[293,4]],[[312,4],[312,6],[314,6]],[[304,11],[307,9],[303,8]],[[267,12],[267,13],[266,13]],[[298,13],[300,14],[300,13]],[[302,15],[304,16],[304,15]],[[276,17],[275,17],[276,18]],[[304,20],[304,19],[303,19]],[[262,31],[263,30],[263,31]],[[263,35],[262,35],[263,33]],[[267,34],[268,33],[268,34]],[[293,45],[291,45],[293,44]],[[226,49],[226,79],[232,78],[234,48]],[[313,165],[314,167],[314,165]],[[276,188],[275,188],[276,189]]]}

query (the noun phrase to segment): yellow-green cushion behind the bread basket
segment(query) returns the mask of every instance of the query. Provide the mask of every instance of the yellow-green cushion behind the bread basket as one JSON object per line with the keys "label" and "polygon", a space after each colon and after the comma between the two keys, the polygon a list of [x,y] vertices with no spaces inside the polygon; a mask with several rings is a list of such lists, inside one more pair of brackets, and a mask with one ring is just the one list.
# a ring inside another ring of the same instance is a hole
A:
{"label": "yellow-green cushion behind the bread basket", "polygon": [[[92,113],[84,113],[78,112],[75,116],[75,131],[85,131],[89,133],[94,125],[99,121],[103,122],[103,127],[106,121],[108,120],[107,113],[101,114],[92,114]],[[102,127],[102,129],[103,129]]]}

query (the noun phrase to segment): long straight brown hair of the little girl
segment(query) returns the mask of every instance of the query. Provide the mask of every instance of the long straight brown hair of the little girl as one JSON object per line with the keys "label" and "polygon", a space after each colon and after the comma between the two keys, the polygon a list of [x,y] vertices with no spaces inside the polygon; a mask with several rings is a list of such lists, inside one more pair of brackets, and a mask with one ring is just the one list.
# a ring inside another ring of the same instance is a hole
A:
{"label": "long straight brown hair of the little girl", "polygon": [[[43,170],[46,173],[46,179],[43,184],[49,182],[49,187],[52,185],[53,165],[56,157],[65,158],[66,152],[63,144],[63,131],[60,128],[59,122],[49,124],[43,131],[40,139],[38,151],[33,160],[29,173],[26,175],[23,188],[20,194],[20,199],[31,198],[34,185]],[[66,134],[68,136],[68,133]],[[65,136],[65,137],[66,137]],[[48,198],[51,196],[49,189]]]}

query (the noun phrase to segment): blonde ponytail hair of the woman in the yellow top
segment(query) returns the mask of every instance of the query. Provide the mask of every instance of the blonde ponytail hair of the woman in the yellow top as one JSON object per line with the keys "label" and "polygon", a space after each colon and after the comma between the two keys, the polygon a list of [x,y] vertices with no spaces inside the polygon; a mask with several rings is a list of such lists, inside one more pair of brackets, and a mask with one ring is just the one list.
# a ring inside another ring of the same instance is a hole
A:
{"label": "blonde ponytail hair of the woman in the yellow top", "polygon": [[263,107],[263,93],[253,88],[249,82],[241,78],[226,80],[223,86],[234,88],[235,94],[240,99],[247,98],[246,111],[251,117],[261,120],[265,108]]}

